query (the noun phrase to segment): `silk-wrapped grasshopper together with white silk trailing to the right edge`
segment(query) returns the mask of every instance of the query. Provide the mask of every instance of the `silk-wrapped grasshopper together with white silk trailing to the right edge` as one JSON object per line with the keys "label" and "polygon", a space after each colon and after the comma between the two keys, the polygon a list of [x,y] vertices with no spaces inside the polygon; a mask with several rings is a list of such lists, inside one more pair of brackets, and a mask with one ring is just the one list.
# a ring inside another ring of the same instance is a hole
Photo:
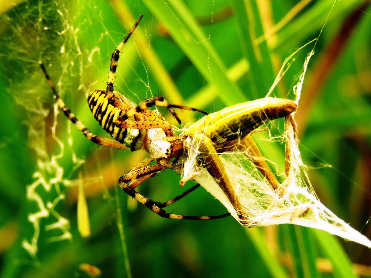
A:
{"label": "silk-wrapped grasshopper together with white silk trailing to the right edge", "polygon": [[[182,133],[180,183],[200,183],[244,226],[296,224],[371,248],[368,238],[316,198],[298,149],[291,114],[296,108],[294,101],[268,97],[227,107],[188,126]],[[250,135],[261,124],[283,117],[285,179],[279,183]]]}

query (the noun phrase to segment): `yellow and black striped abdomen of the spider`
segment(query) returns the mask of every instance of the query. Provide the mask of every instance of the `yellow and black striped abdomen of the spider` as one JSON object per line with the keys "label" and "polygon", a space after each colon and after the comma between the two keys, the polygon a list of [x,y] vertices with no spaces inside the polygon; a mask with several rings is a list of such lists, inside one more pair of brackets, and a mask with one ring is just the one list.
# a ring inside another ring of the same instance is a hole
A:
{"label": "yellow and black striped abdomen of the spider", "polygon": [[[114,97],[119,99],[122,106],[127,107],[127,110],[135,107],[134,103],[121,95],[118,96],[116,92],[114,92]],[[112,138],[123,143],[132,151],[142,149],[145,130],[118,128],[115,122],[120,116],[124,115],[126,111],[110,105],[104,90],[95,90],[89,93],[88,105],[99,125],[101,125]],[[134,117],[130,117],[127,120],[135,119]]]}

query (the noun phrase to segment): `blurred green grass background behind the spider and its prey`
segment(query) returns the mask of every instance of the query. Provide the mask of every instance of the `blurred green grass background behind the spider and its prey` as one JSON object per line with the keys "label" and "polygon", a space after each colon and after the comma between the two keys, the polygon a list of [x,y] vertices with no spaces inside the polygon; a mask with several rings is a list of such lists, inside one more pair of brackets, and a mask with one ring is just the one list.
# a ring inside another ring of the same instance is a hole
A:
{"label": "blurred green grass background behind the spider and its prey", "polygon": [[[327,20],[296,114],[299,147],[321,202],[371,238],[369,4],[0,1],[1,277],[89,277],[79,269],[83,263],[98,267],[101,277],[370,276],[365,267],[371,264],[368,248],[325,232],[293,225],[246,229],[232,217],[162,219],[137,206],[118,190],[117,179],[145,153],[97,148],[60,113],[54,135],[55,100],[38,64],[46,64],[78,118],[105,136],[85,95],[105,89],[109,58],[140,14],[144,18],[119,60],[115,90],[137,103],[162,95],[209,112],[264,97],[285,58],[317,38]],[[273,96],[294,98],[292,86],[312,47],[290,61]],[[183,122],[201,117],[186,112],[180,116]],[[278,157],[275,162],[282,168],[281,154],[269,155]],[[166,201],[182,191],[179,179],[167,170],[139,191]],[[51,204],[49,216],[40,218],[34,256],[22,247],[24,239],[35,235],[27,219],[38,211],[35,198],[27,195],[32,184],[38,185],[34,196]],[[89,238],[82,238],[77,228],[79,184],[88,203]],[[171,209],[188,215],[226,211],[203,189]],[[52,229],[57,219],[68,220],[65,230]],[[72,239],[59,240],[69,232]]]}

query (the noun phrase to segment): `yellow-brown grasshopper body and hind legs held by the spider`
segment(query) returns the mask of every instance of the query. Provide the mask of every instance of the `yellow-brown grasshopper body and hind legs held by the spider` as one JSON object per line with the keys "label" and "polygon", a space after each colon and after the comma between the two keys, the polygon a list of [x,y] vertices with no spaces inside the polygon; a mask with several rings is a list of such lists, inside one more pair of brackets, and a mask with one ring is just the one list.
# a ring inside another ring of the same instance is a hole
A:
{"label": "yellow-brown grasshopper body and hind legs held by the spider", "polygon": [[[183,176],[181,185],[190,179],[200,183],[219,199],[241,224],[254,226],[256,223],[250,221],[250,216],[240,202],[243,187],[240,186],[241,183],[252,183],[253,186],[254,178],[246,176],[244,180],[241,176],[236,183],[233,181],[236,172],[233,173],[231,167],[237,167],[237,172],[246,173],[246,165],[241,161],[244,160],[245,164],[246,160],[251,162],[259,171],[260,178],[269,183],[278,198],[282,196],[285,188],[271,172],[251,134],[269,120],[288,117],[296,107],[292,100],[267,97],[224,108],[185,128],[182,133],[185,138],[183,153],[179,162],[182,167],[178,171]],[[226,163],[226,159],[231,157],[234,162],[240,164]],[[214,186],[210,187],[210,183]],[[249,198],[251,197],[253,196]]]}

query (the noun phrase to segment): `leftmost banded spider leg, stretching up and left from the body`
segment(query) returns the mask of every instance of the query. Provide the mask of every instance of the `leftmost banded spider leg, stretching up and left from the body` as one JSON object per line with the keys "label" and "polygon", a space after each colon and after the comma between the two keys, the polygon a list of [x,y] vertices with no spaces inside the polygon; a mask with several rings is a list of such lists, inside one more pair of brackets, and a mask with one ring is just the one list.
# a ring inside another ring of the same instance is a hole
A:
{"label": "leftmost banded spider leg, stretching up and left from the body", "polygon": [[104,138],[102,136],[94,135],[88,128],[86,128],[86,126],[76,118],[76,116],[71,112],[71,110],[69,110],[66,107],[63,100],[59,97],[59,94],[58,94],[57,90],[55,89],[55,87],[52,83],[52,80],[50,79],[50,76],[47,73],[43,63],[40,63],[40,67],[43,70],[43,72],[45,74],[45,77],[46,77],[46,80],[49,83],[49,86],[52,89],[52,91],[53,91],[53,93],[54,93],[54,95],[57,99],[57,102],[58,102],[58,105],[59,105],[60,109],[62,109],[62,111],[63,111],[63,113],[65,113],[66,117],[72,123],[74,123],[75,126],[77,126],[77,128],[79,130],[81,130],[84,133],[86,138],[88,138],[90,141],[92,141],[93,143],[96,143],[98,145],[111,147],[111,148],[118,148],[118,149],[127,149],[127,147],[124,144],[121,144],[120,142],[118,142],[116,140],[112,140],[112,139]]}

